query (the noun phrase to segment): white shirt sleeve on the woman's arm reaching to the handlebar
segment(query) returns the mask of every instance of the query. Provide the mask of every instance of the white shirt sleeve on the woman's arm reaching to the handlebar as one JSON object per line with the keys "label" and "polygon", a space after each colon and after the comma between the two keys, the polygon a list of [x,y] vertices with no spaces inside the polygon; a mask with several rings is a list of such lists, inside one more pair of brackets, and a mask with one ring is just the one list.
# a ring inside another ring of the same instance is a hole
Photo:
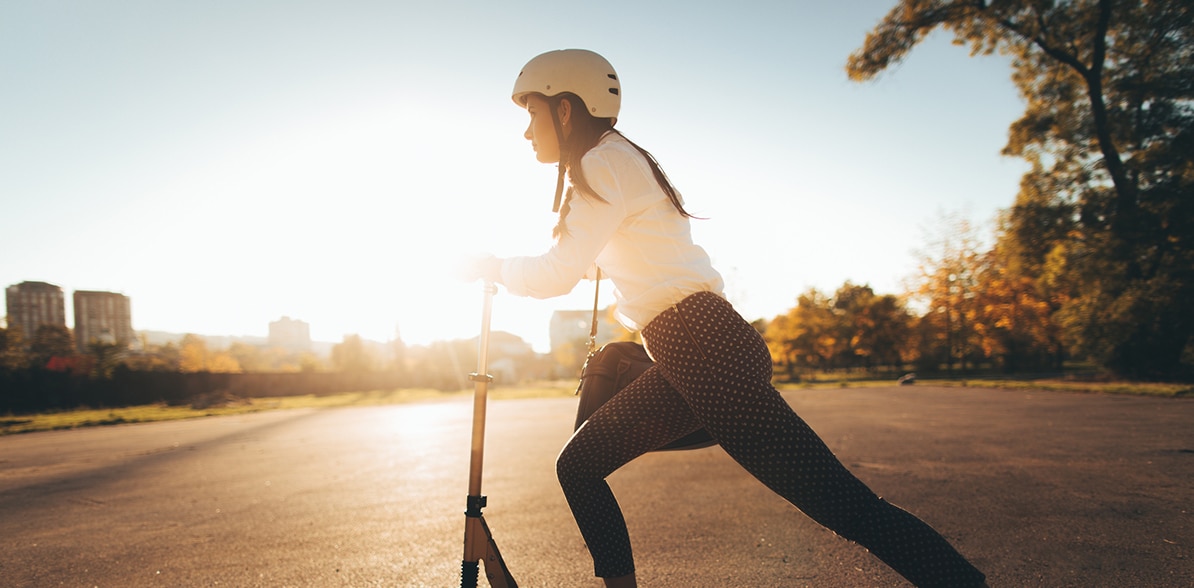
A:
{"label": "white shirt sleeve on the woman's arm reaching to the handlebar", "polygon": [[511,294],[544,299],[572,292],[581,278],[592,276],[597,255],[626,218],[626,198],[609,161],[586,155],[581,165],[604,202],[577,191],[565,220],[567,233],[547,253],[504,259],[501,282]]}

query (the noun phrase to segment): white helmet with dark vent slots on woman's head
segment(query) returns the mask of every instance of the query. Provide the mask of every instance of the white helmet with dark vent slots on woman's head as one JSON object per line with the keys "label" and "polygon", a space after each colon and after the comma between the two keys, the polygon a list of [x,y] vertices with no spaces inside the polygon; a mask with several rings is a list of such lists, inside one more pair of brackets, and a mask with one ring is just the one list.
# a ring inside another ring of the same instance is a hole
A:
{"label": "white helmet with dark vent slots on woman's head", "polygon": [[548,51],[528,61],[515,80],[512,98],[515,104],[525,108],[527,94],[564,92],[580,97],[597,118],[617,118],[622,106],[622,87],[614,66],[585,49]]}

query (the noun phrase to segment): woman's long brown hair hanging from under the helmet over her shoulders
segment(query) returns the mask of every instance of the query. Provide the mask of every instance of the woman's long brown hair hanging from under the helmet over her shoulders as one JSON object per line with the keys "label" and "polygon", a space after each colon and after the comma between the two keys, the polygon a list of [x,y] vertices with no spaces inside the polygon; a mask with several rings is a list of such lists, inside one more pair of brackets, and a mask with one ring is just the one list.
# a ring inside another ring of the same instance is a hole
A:
{"label": "woman's long brown hair hanging from under the helmet over her shoulders", "polygon": [[[564,133],[560,131],[559,105],[562,100],[568,100],[572,105],[572,131],[568,133],[566,140],[562,139]],[[556,94],[548,98],[548,104],[550,105],[552,121],[556,128],[556,136],[560,137],[560,177],[562,179],[566,172],[574,188],[568,189],[567,196],[564,198],[564,206],[560,207],[560,220],[552,231],[552,235],[559,239],[568,232],[565,219],[572,208],[570,204],[574,192],[579,191],[581,197],[597,198],[601,202],[605,202],[605,198],[601,194],[597,194],[597,190],[593,190],[589,180],[585,179],[580,160],[589,153],[589,149],[597,146],[597,142],[601,141],[601,137],[605,133],[617,133],[622,139],[626,139],[626,135],[614,129],[614,118],[598,118],[589,114],[585,102],[577,94],[568,92]],[[667,195],[667,200],[676,207],[676,210],[690,219],[695,218],[688,210],[684,210],[679,192],[676,191],[676,186],[672,185],[671,180],[667,179],[667,174],[659,167],[659,163],[656,161],[654,155],[647,152],[647,149],[639,147],[634,141],[629,139],[626,139],[626,141],[647,160],[647,164],[651,166],[651,173],[656,177],[656,182],[659,183],[659,188]]]}

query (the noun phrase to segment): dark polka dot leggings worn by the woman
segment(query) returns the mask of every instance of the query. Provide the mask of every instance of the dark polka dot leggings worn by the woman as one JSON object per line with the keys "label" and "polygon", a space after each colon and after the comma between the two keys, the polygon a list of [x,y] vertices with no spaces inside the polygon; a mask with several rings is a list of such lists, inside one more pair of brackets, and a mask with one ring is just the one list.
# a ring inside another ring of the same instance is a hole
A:
{"label": "dark polka dot leggings worn by the woman", "polygon": [[771,386],[767,344],[725,299],[694,294],[652,320],[642,338],[656,366],[595,412],[556,460],[597,576],[634,571],[626,520],[605,477],[704,427],[763,484],[913,584],[983,583],[936,531],[847,471]]}

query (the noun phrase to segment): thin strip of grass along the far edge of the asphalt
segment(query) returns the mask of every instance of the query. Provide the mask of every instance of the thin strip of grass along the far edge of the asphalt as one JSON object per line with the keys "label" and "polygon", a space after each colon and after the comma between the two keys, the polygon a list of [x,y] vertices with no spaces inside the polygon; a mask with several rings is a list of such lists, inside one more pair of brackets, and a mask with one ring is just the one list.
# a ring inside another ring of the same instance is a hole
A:
{"label": "thin strip of grass along the far edge of the asphalt", "polygon": [[[781,391],[808,388],[845,388],[892,386],[891,380],[821,380],[817,382],[780,384]],[[1189,384],[1149,384],[1149,382],[1098,382],[1071,380],[922,380],[917,386],[959,386],[1011,390],[1039,390],[1054,392],[1083,392],[1107,394],[1135,394],[1157,397],[1194,396],[1194,386]],[[552,398],[571,397],[576,392],[573,381],[538,382],[522,386],[491,386],[491,399],[516,398]],[[80,427],[100,427],[107,424],[148,423],[155,421],[178,421],[222,415],[244,415],[264,410],[288,409],[328,409],[337,406],[377,406],[386,404],[404,404],[429,400],[464,398],[473,390],[441,392],[427,388],[412,390],[374,390],[369,392],[349,392],[331,396],[290,396],[277,398],[232,399],[215,406],[170,406],[150,404],[144,406],[127,406],[119,409],[79,409],[39,415],[0,416],[0,435],[32,433],[42,430],[75,429]]]}

